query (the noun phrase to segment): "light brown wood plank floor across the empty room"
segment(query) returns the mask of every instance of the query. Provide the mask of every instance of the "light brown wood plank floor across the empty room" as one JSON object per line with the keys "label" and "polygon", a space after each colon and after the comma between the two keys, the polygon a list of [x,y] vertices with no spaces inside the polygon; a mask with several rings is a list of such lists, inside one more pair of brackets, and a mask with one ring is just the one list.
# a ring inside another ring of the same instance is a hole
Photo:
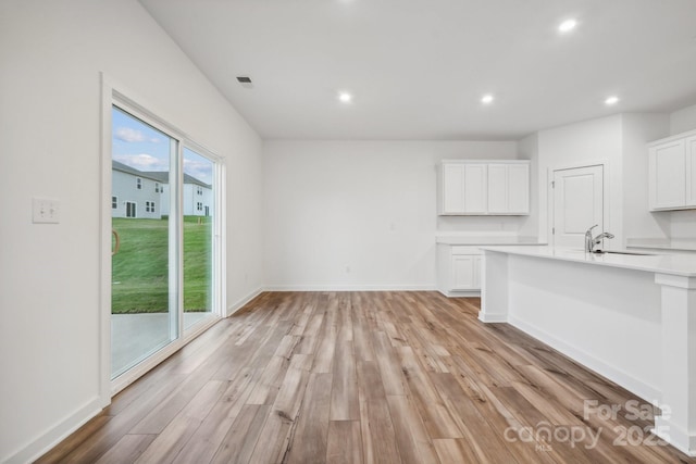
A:
{"label": "light brown wood plank floor across the empty room", "polygon": [[[696,462],[646,431],[651,407],[508,325],[480,323],[478,303],[263,293],[39,462]],[[634,417],[626,406],[638,404]]]}

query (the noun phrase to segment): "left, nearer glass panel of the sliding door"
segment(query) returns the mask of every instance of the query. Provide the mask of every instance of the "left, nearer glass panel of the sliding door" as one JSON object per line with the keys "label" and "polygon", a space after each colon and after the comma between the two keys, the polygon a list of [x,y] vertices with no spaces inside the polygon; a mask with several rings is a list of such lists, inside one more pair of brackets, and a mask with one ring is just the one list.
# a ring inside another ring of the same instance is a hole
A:
{"label": "left, nearer glass panel of the sliding door", "polygon": [[177,140],[113,106],[112,378],[178,337],[177,188],[170,188],[177,150]]}

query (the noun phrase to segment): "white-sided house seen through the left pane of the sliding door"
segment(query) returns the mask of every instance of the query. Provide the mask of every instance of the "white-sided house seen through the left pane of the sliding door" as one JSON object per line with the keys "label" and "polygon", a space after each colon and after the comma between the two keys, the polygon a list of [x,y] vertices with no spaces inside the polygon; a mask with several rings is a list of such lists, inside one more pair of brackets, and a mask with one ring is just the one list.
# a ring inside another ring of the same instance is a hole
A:
{"label": "white-sided house seen through the left pane of the sliding door", "polygon": [[163,184],[117,161],[111,166],[111,217],[162,218]]}

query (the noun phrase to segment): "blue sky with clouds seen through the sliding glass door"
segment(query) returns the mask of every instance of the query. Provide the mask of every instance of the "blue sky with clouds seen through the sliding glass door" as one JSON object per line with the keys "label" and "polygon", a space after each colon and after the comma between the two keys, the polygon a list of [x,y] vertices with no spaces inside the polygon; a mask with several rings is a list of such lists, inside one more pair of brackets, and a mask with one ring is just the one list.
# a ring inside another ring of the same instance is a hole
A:
{"label": "blue sky with clouds seen through the sliding glass door", "polygon": [[[112,158],[138,171],[170,171],[171,138],[114,108],[112,110]],[[206,184],[212,180],[213,163],[184,148],[184,173]]]}

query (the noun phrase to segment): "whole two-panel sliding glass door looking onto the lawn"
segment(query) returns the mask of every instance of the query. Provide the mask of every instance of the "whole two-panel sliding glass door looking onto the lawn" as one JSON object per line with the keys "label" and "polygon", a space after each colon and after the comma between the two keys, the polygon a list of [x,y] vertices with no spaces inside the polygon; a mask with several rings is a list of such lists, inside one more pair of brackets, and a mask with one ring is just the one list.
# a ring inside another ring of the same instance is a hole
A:
{"label": "whole two-panel sliding glass door looking onto the lawn", "polygon": [[212,317],[216,164],[113,105],[111,378]]}

